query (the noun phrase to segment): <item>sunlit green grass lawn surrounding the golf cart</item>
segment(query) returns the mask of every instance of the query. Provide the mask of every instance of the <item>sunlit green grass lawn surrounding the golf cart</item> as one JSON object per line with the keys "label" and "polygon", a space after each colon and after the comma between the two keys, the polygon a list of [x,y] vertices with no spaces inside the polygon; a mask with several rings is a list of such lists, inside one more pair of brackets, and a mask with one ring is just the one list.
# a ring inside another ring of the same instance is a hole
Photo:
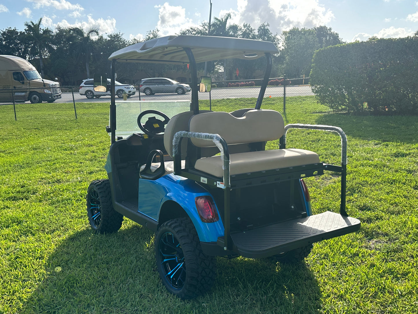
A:
{"label": "sunlit green grass lawn surrounding the golf cart", "polygon": [[[254,103],[212,101],[212,110]],[[77,120],[72,104],[56,105],[17,105],[18,121],[0,106],[0,313],[416,313],[416,117],[325,113],[312,96],[289,98],[287,123],[346,132],[347,212],[362,228],[316,243],[298,265],[218,258],[212,290],[181,301],[158,278],[153,232],[127,219],[115,234],[89,228],[87,187],[107,177],[108,104],[76,104]],[[282,100],[263,108],[281,111]],[[291,130],[287,144],[340,162],[336,134]],[[306,179],[315,214],[338,211],[339,182],[332,173]]]}

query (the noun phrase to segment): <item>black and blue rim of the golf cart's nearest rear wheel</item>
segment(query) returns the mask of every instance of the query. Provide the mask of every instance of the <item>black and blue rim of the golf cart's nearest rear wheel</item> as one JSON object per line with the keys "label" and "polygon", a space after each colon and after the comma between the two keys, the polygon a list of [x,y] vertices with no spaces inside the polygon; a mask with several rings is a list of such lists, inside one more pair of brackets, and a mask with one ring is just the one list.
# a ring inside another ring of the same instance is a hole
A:
{"label": "black and blue rim of the golf cart's nearest rear wheel", "polygon": [[161,268],[168,284],[176,290],[184,286],[186,264],[180,243],[171,232],[165,232],[158,243]]}

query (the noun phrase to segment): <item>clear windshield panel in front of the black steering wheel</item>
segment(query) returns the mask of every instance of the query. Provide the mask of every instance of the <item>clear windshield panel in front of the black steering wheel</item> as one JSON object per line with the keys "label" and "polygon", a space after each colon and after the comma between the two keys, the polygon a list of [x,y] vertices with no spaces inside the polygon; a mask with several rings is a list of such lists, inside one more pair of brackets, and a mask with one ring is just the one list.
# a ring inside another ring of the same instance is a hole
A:
{"label": "clear windshield panel in front of the black steering wheel", "polygon": [[[116,100],[116,136],[126,139],[133,133],[144,133],[138,126],[137,118],[145,110],[157,110],[165,113],[168,118],[172,118],[178,113],[190,111],[190,100]],[[155,116],[157,119],[164,118],[154,114],[146,114],[141,119],[142,124],[149,117]],[[109,117],[110,125],[110,117]],[[110,135],[110,133],[109,133]]]}

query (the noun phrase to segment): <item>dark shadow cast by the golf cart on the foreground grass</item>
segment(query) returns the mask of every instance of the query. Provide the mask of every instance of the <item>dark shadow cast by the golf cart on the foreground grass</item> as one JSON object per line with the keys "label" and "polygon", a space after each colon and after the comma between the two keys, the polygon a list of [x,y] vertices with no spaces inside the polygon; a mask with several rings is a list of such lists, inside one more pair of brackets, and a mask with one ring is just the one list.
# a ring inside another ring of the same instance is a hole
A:
{"label": "dark shadow cast by the golf cart on the foreground grass", "polygon": [[153,233],[132,226],[115,234],[76,232],[46,262],[46,277],[22,313],[318,313],[321,292],[305,264],[218,258],[214,287],[181,301],[156,271]]}

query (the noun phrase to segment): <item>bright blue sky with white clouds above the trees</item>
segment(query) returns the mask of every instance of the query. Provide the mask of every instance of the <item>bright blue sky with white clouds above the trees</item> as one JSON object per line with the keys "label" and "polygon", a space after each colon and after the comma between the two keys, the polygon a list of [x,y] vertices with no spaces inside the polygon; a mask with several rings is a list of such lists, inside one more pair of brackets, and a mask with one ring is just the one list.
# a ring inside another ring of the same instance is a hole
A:
{"label": "bright blue sky with white clouds above the trees", "polygon": [[[0,29],[23,31],[26,21],[42,18],[43,27],[99,28],[104,36],[121,32],[126,39],[143,39],[158,28],[161,36],[209,21],[210,0],[0,0]],[[371,36],[399,38],[418,30],[417,0],[212,0],[213,17],[232,15],[231,23],[257,28],[269,23],[280,35],[293,27],[331,27],[342,40]]]}

